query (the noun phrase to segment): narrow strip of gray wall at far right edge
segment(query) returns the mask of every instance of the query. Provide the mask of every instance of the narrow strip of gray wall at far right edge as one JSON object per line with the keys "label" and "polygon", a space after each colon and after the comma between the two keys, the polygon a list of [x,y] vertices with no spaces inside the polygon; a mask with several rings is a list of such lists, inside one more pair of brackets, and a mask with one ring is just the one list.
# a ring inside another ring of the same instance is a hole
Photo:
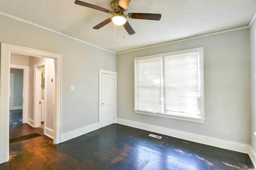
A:
{"label": "narrow strip of gray wall at far right edge", "polygon": [[[252,95],[252,131],[251,146],[256,152],[256,19],[250,27],[250,55],[251,55],[251,95]],[[254,155],[256,156],[256,155]]]}

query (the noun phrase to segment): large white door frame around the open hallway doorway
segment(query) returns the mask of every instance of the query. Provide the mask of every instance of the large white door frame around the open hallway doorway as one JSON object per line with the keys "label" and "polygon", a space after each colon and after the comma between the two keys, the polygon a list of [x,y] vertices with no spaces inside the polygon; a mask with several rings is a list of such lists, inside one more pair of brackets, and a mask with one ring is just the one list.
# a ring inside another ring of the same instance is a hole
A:
{"label": "large white door frame around the open hallway doorway", "polygon": [[62,55],[1,43],[0,59],[0,164],[9,160],[9,95],[10,95],[10,57],[11,53],[28,55],[34,57],[47,57],[55,59],[56,81],[55,81],[55,109],[54,109],[54,139],[53,143],[60,143],[60,124],[61,124],[61,63]]}

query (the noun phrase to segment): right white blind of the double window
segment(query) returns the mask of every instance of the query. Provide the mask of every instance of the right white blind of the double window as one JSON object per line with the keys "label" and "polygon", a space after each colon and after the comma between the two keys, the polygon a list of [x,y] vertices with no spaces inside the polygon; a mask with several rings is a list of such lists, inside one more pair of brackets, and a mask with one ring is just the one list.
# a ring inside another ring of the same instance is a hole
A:
{"label": "right white blind of the double window", "polygon": [[166,109],[198,113],[198,52],[166,57]]}

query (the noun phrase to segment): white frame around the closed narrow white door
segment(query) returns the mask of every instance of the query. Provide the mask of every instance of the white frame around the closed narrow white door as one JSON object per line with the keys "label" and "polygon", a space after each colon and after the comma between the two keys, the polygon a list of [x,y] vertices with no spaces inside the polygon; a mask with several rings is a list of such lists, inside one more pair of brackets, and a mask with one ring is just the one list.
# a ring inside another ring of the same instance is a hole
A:
{"label": "white frame around the closed narrow white door", "polygon": [[114,95],[114,123],[116,123],[117,112],[117,72],[99,69],[99,128],[102,127],[102,73],[115,76],[115,95]]}

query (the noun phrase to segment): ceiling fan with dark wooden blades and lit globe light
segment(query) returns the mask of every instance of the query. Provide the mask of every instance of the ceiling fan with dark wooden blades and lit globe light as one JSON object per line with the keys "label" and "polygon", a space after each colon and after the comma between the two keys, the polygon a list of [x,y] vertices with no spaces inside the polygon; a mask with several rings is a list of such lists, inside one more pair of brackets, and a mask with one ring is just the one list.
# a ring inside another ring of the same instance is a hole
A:
{"label": "ceiling fan with dark wooden blades and lit globe light", "polygon": [[127,18],[130,19],[142,19],[142,20],[157,20],[161,19],[161,14],[147,14],[147,13],[129,13],[127,14],[128,5],[130,0],[113,0],[110,4],[112,10],[108,10],[106,8],[102,8],[100,6],[96,6],[93,4],[88,4],[86,2],[82,2],[80,0],[76,0],[75,4],[86,6],[88,8],[92,8],[95,10],[100,10],[106,12],[108,14],[113,14],[111,18],[106,19],[105,21],[99,23],[94,29],[100,29],[104,25],[113,21],[116,25],[124,25],[124,28],[128,32],[129,35],[135,33],[132,29],[132,26],[128,23]]}

